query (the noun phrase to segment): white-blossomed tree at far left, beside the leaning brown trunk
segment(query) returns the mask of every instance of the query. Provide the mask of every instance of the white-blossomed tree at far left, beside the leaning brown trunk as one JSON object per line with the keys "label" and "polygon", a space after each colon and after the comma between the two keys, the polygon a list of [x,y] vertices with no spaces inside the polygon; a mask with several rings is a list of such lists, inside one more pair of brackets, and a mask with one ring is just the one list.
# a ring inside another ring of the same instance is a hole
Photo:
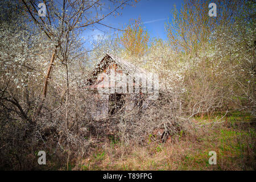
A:
{"label": "white-blossomed tree at far left, beside the leaning brown trunk", "polygon": [[[1,100],[9,102],[10,107],[2,103],[9,109],[16,107],[18,110],[11,110],[31,122],[28,115],[33,108],[31,100],[40,93],[37,86],[40,87],[48,65],[44,58],[53,45],[43,34],[27,26],[27,18],[16,2],[2,3],[8,8],[1,13]],[[15,14],[8,13],[14,10]]]}

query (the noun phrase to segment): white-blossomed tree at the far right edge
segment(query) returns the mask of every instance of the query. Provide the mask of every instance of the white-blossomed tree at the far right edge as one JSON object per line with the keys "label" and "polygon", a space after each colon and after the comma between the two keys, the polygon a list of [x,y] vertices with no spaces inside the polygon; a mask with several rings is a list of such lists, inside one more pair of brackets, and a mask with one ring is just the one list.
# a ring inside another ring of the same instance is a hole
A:
{"label": "white-blossomed tree at the far right edge", "polygon": [[212,51],[207,57],[214,63],[214,74],[225,79],[228,95],[238,109],[255,116],[255,23],[252,10],[255,3],[247,2],[232,26],[221,26],[210,36]]}

